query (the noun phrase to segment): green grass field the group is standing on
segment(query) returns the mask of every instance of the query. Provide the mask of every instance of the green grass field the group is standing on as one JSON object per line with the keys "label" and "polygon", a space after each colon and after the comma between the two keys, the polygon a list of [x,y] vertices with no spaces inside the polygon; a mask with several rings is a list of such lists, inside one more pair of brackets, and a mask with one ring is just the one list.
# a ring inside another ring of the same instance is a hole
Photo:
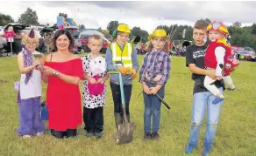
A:
{"label": "green grass field the group is standing on", "polygon": [[[139,64],[142,56],[139,56]],[[76,139],[54,139],[46,130],[44,138],[22,139],[16,134],[18,128],[17,92],[14,81],[18,80],[17,58],[0,58],[0,155],[14,156],[68,156],[68,155],[169,155],[182,156],[188,142],[193,81],[185,67],[185,58],[172,58],[171,78],[166,87],[165,100],[171,110],[162,105],[160,142],[143,141],[143,97],[138,98],[141,85],[134,81],[132,88],[132,120],[137,127],[131,144],[117,146],[114,140],[115,123],[110,86],[107,88],[107,105],[104,107],[104,132],[102,139],[88,139],[83,125],[78,127]],[[254,72],[253,72],[254,71]],[[256,155],[256,64],[242,62],[232,74],[237,86],[235,92],[224,92],[226,97],[217,127],[217,136],[210,156]],[[44,85],[44,95],[46,85]],[[202,153],[205,124],[202,125],[198,149],[189,154]]]}

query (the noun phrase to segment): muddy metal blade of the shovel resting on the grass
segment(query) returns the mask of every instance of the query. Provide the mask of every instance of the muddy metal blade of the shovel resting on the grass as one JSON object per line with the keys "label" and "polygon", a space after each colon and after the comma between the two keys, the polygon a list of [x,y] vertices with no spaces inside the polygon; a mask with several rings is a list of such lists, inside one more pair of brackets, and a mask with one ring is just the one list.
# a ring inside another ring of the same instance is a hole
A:
{"label": "muddy metal blade of the shovel resting on the grass", "polygon": [[117,145],[132,142],[134,126],[134,123],[130,122],[118,125]]}

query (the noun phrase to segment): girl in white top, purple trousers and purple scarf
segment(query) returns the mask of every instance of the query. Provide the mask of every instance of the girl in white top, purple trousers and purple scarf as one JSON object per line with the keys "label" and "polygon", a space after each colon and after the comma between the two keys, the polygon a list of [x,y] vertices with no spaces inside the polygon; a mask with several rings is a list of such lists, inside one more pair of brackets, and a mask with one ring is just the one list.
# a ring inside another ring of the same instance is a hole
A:
{"label": "girl in white top, purple trousers and purple scarf", "polygon": [[42,95],[41,66],[43,56],[35,51],[39,37],[32,30],[22,38],[23,48],[18,54],[18,69],[21,72],[18,84],[19,123],[18,135],[31,138],[43,135],[44,124],[40,116]]}

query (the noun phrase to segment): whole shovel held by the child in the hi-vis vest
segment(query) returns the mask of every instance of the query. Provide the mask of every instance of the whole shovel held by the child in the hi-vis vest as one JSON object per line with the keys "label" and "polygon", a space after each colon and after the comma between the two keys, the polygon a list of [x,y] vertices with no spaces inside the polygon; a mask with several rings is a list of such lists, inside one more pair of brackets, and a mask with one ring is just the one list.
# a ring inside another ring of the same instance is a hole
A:
{"label": "whole shovel held by the child in the hi-vis vest", "polygon": [[130,123],[127,120],[125,104],[124,104],[124,86],[123,86],[122,73],[117,69],[116,65],[114,65],[114,67],[118,71],[118,75],[119,75],[121,102],[122,102],[122,111],[123,111],[123,124],[118,125],[118,129],[117,129],[117,145],[122,145],[122,144],[132,142],[134,123]]}

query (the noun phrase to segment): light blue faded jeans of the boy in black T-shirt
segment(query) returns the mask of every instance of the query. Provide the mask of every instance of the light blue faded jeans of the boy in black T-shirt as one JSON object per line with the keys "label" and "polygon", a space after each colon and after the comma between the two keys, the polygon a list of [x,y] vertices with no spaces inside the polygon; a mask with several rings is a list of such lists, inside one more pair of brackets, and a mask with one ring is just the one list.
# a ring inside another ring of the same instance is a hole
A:
{"label": "light blue faded jeans of the boy in black T-shirt", "polygon": [[[223,93],[223,87],[220,87],[218,90]],[[203,121],[205,109],[207,110],[207,123],[203,145],[208,147],[212,146],[212,142],[217,130],[219,113],[223,105],[222,102],[216,105],[212,104],[211,102],[214,98],[216,97],[210,92],[197,92],[194,94],[192,120],[188,142],[190,146],[197,146],[198,134],[200,132],[200,125]]]}

